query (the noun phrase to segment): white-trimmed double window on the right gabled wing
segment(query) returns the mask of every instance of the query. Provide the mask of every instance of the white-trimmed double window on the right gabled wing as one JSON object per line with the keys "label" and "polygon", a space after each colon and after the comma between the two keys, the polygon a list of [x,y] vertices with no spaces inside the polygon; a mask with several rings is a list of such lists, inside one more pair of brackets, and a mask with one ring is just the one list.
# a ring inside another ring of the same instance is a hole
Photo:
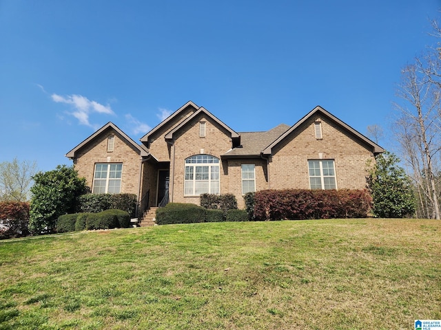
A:
{"label": "white-trimmed double window on the right gabled wing", "polygon": [[334,159],[308,160],[311,189],[337,189]]}

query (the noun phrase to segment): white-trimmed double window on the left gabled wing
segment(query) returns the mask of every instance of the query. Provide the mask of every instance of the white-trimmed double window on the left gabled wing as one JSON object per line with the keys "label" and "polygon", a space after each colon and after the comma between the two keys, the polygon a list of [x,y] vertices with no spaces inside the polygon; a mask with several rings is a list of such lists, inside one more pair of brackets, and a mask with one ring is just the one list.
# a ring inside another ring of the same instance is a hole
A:
{"label": "white-trimmed double window on the left gabled wing", "polygon": [[119,194],[123,163],[96,163],[94,172],[94,194]]}

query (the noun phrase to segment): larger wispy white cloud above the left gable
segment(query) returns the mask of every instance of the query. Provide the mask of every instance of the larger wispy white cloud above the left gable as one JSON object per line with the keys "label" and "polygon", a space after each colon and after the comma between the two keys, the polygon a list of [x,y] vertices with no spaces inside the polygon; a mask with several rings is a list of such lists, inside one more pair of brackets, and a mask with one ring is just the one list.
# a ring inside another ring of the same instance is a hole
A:
{"label": "larger wispy white cloud above the left gable", "polygon": [[74,111],[70,112],[70,115],[73,115],[77,120],[79,120],[80,124],[90,126],[93,129],[96,129],[96,124],[91,124],[89,117],[91,113],[104,113],[107,115],[114,115],[115,113],[110,108],[110,105],[103,105],[96,101],[91,101],[85,96],[81,95],[68,95],[61,96],[58,94],[52,94],[52,100],[57,103],[65,103],[70,104],[74,108]]}

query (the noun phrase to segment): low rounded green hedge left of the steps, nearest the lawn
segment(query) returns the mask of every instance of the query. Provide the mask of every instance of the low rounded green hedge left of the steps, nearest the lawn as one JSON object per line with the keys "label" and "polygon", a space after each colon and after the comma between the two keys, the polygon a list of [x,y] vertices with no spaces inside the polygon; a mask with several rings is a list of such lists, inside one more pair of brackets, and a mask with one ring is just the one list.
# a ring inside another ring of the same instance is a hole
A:
{"label": "low rounded green hedge left of the steps, nearest the lawn", "polygon": [[98,213],[81,212],[61,215],[57,221],[57,232],[128,228],[129,226],[130,214],[124,210],[111,209]]}

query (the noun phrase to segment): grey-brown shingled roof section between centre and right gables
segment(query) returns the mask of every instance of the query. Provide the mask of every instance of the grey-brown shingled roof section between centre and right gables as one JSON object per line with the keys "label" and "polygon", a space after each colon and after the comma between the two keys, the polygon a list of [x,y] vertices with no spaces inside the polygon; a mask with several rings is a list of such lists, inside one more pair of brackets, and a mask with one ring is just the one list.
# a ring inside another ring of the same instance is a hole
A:
{"label": "grey-brown shingled roof section between centre and right gables", "polygon": [[269,131],[264,132],[240,132],[240,147],[233,148],[223,157],[243,157],[254,156],[260,157],[260,153],[271,142],[274,142],[280,135],[289,129],[287,124],[280,124]]}

